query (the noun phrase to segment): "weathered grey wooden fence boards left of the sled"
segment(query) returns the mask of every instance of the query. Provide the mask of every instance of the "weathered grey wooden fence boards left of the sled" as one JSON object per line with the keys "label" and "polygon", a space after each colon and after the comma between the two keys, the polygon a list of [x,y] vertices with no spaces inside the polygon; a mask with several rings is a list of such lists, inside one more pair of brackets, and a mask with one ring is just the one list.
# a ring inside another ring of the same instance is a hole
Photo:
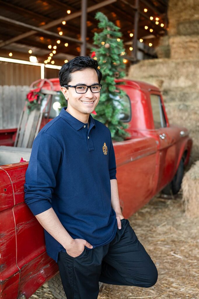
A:
{"label": "weathered grey wooden fence boards left of the sled", "polygon": [[0,86],[0,129],[17,128],[29,86]]}

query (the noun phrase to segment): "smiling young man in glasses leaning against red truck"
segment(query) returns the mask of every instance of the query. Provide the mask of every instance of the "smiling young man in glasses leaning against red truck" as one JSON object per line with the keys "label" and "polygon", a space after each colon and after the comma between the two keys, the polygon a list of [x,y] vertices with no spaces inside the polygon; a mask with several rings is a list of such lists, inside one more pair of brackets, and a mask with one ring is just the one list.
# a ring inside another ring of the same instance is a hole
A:
{"label": "smiling young man in glasses leaning against red truck", "polygon": [[99,281],[150,287],[157,269],[120,209],[110,130],[94,111],[99,63],[75,57],[59,72],[68,101],[33,142],[25,202],[45,229],[67,299],[96,299]]}

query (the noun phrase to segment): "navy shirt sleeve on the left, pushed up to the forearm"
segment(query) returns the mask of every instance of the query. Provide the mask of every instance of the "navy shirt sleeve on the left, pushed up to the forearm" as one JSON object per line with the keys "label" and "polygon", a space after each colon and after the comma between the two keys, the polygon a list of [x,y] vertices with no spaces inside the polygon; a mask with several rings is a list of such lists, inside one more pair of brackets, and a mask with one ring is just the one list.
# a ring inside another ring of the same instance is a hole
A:
{"label": "navy shirt sleeve on the left, pushed up to the forearm", "polygon": [[33,215],[52,207],[56,173],[62,159],[58,141],[46,132],[39,133],[33,141],[30,161],[25,174],[25,203]]}

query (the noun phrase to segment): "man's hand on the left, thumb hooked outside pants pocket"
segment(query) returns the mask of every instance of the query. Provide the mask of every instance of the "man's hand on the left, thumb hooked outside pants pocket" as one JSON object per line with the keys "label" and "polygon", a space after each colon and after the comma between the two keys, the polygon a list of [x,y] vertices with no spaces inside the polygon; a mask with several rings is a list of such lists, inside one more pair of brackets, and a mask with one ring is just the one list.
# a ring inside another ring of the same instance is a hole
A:
{"label": "man's hand on the left, thumb hooked outside pants pocket", "polygon": [[71,257],[78,257],[84,251],[85,246],[93,248],[93,246],[84,239],[73,239],[65,250]]}

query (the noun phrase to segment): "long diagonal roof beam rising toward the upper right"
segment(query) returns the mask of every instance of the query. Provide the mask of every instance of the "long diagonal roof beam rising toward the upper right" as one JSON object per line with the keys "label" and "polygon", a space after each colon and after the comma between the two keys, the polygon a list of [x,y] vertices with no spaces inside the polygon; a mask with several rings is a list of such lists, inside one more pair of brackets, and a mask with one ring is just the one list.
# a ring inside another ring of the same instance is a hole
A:
{"label": "long diagonal roof beam rising toward the upper right", "polygon": [[[90,6],[90,7],[87,8],[87,13],[89,13],[89,12],[91,12],[93,10],[97,10],[100,7],[104,7],[105,5],[109,5],[111,3],[114,3],[116,1],[117,0],[105,0],[105,1],[102,1],[102,2],[100,2],[98,4],[92,5],[92,6]],[[56,19],[56,20],[54,20],[54,21],[52,21],[52,22],[50,22],[50,23],[48,23],[46,25],[43,25],[43,26],[39,27],[39,28],[42,28],[42,29],[51,28],[51,27],[54,27],[54,26],[60,24],[62,21],[68,21],[68,20],[77,18],[79,16],[81,16],[81,10],[78,11],[78,12],[76,12],[76,13],[71,13],[70,15],[65,16],[63,18]],[[18,36],[15,36],[12,39],[7,40],[6,42],[0,43],[0,48],[3,47],[3,46],[5,46],[5,45],[11,44],[12,42],[16,42],[19,39],[23,39],[23,38],[25,38],[27,36],[33,35],[35,33],[36,33],[36,30],[31,30],[31,31],[28,31],[26,33],[23,33],[23,34],[20,34]]]}

